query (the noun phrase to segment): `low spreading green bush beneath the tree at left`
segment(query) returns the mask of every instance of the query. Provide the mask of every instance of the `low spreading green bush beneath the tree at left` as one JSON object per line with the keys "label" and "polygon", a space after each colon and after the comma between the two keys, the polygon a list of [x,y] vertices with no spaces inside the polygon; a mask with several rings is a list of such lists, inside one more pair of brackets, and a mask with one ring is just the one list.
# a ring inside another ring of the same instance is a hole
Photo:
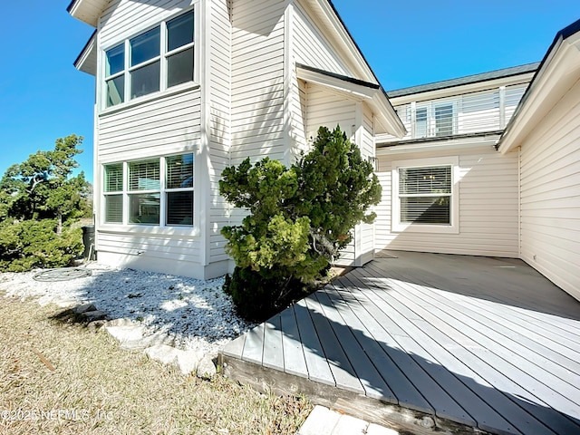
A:
{"label": "low spreading green bush beneath the tree at left", "polygon": [[0,224],[0,271],[70,266],[82,254],[82,229],[65,227],[59,236],[56,227],[56,219]]}

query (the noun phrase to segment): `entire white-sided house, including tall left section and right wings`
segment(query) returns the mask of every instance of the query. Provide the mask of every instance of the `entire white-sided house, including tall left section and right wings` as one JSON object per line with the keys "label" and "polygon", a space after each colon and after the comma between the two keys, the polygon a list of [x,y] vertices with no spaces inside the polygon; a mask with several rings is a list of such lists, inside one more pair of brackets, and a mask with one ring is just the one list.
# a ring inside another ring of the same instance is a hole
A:
{"label": "entire white-sided house, including tall left section and right wings", "polygon": [[343,264],[384,248],[522,258],[580,299],[576,22],[542,63],[387,94],[328,0],[73,0],[95,27],[99,260],[209,278],[244,214],[221,171],[292,163],[321,125],[375,160],[383,198]]}

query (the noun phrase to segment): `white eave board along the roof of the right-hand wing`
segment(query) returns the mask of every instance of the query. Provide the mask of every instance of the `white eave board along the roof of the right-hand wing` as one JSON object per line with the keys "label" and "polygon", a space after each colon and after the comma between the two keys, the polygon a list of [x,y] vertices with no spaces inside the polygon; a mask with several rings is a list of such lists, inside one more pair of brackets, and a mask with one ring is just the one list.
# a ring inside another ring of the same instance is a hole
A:
{"label": "white eave board along the roof of the right-hand wing", "polygon": [[498,150],[505,154],[520,146],[578,80],[580,33],[557,42],[548,54],[499,140]]}

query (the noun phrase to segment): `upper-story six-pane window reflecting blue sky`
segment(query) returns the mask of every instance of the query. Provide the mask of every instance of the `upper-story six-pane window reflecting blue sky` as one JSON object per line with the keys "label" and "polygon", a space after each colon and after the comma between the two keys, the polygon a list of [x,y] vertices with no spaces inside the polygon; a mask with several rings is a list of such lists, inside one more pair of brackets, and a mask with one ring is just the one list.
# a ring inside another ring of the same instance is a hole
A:
{"label": "upper-story six-pane window reflecting blue sky", "polygon": [[105,107],[193,81],[193,11],[105,52]]}

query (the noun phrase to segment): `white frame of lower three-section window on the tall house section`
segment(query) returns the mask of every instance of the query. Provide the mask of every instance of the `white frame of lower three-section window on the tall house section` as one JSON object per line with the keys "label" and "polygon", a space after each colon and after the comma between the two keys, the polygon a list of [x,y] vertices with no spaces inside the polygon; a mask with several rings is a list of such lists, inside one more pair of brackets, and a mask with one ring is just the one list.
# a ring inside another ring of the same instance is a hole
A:
{"label": "white frame of lower three-section window on the tall house section", "polygon": [[[173,157],[173,156],[180,156],[185,154],[193,155],[193,183],[190,188],[179,188],[179,189],[169,189],[166,186],[166,168],[167,168],[167,161],[166,159]],[[165,229],[172,229],[173,232],[182,231],[184,233],[197,233],[198,221],[196,219],[196,169],[195,169],[195,161],[197,159],[197,155],[195,152],[187,150],[177,153],[172,153],[164,156],[151,156],[151,157],[143,157],[140,159],[133,159],[133,160],[124,160],[124,161],[111,161],[111,162],[103,162],[101,166],[102,172],[102,203],[100,204],[100,215],[101,218],[99,219],[101,225],[103,227],[123,227],[123,228],[165,228]],[[151,160],[158,160],[160,164],[160,189],[148,189],[148,190],[131,190],[129,186],[129,166],[131,163],[139,163]],[[111,191],[105,192],[104,187],[106,186],[106,170],[105,168],[109,165],[115,164],[122,164],[122,190],[121,191]],[[192,204],[192,223],[191,225],[169,225],[167,224],[168,220],[168,210],[167,210],[167,194],[173,192],[185,192],[191,191],[193,192],[193,204]],[[130,222],[131,218],[131,195],[135,194],[148,194],[148,193],[159,193],[160,194],[160,222],[159,224],[156,223],[133,223]],[[106,222],[106,197],[113,196],[113,195],[122,195],[122,222]]]}

